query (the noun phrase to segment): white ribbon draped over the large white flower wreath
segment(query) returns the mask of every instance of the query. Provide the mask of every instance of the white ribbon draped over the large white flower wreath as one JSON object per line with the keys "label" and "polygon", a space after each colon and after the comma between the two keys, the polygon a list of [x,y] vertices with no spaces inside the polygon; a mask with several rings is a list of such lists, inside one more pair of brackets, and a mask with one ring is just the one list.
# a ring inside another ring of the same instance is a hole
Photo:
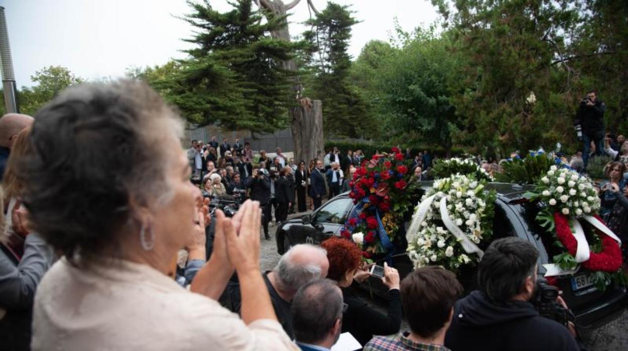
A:
{"label": "white ribbon draped over the large white flower wreath", "polygon": [[[412,242],[412,240],[414,239],[414,235],[419,232],[421,228],[421,223],[423,223],[423,220],[425,219],[428,210],[430,210],[431,204],[434,202],[435,197],[436,194],[423,200],[418,206],[416,212],[414,212],[412,222],[406,232],[406,239],[408,239],[408,242]],[[449,230],[449,232],[456,237],[458,242],[460,242],[460,245],[462,245],[462,249],[464,249],[467,254],[475,253],[477,254],[477,256],[482,258],[482,256],[484,255],[484,251],[477,247],[477,245],[475,245],[475,243],[472,242],[471,239],[469,239],[467,235],[465,235],[462,229],[460,229],[460,227],[458,227],[449,217],[449,212],[447,210],[447,197],[442,197],[440,200],[440,218],[443,221],[443,224],[445,225],[447,230]]]}

